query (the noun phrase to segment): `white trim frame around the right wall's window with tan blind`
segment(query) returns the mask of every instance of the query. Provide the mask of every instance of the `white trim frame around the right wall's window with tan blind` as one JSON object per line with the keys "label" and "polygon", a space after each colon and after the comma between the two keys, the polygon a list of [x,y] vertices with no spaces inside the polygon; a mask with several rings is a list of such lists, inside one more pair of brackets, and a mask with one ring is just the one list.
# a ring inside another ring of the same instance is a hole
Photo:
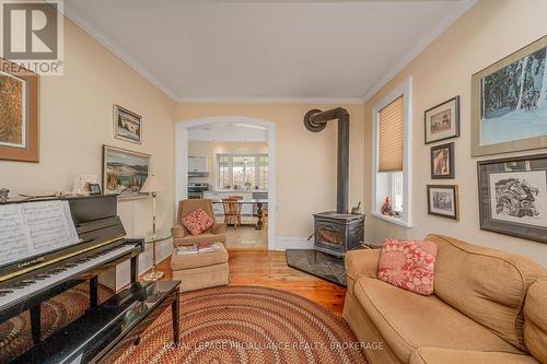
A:
{"label": "white trim frame around the right wall's window with tan blind", "polygon": [[[385,216],[376,211],[376,175],[377,175],[377,115],[381,109],[394,102],[397,97],[403,96],[403,218]],[[389,223],[412,227],[412,204],[410,191],[411,186],[411,171],[412,171],[412,78],[409,77],[395,90],[393,90],[386,97],[372,108],[372,173],[371,173],[371,213],[373,216]]]}

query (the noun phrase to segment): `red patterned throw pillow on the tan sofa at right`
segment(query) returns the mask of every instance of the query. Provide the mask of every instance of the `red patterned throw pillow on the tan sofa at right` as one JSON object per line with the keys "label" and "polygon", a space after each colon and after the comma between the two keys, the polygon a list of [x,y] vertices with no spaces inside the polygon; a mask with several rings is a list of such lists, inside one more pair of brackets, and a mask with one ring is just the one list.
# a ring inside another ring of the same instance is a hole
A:
{"label": "red patterned throw pillow on the tan sofa at right", "polygon": [[387,238],[380,253],[377,278],[422,295],[433,293],[437,244]]}

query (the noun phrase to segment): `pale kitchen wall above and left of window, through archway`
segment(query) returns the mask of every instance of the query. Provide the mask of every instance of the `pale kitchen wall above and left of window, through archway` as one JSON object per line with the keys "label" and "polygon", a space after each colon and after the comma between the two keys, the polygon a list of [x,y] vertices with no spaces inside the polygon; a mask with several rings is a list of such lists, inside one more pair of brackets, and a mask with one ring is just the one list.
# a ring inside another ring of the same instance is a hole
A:
{"label": "pale kitchen wall above and left of window, through archway", "polygon": [[202,156],[208,158],[208,177],[189,177],[189,181],[207,183],[217,188],[214,178],[216,155],[219,153],[268,153],[267,142],[223,142],[188,140],[188,156]]}

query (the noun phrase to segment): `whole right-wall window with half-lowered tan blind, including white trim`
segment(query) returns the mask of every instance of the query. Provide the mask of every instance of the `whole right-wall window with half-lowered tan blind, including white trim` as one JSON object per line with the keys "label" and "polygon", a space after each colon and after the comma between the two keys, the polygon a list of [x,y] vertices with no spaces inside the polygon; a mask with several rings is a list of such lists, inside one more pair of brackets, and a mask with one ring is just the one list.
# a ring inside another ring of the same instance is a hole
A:
{"label": "whole right-wall window with half-lowered tan blind, including white trim", "polygon": [[372,108],[372,214],[411,226],[409,78]]}

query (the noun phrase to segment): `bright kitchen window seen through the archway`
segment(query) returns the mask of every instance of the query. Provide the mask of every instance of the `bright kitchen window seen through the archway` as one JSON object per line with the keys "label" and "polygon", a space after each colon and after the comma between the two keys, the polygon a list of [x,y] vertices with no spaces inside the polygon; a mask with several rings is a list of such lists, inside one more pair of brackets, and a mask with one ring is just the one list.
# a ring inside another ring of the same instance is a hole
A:
{"label": "bright kitchen window seen through the archway", "polygon": [[268,155],[218,154],[218,189],[268,189]]}

